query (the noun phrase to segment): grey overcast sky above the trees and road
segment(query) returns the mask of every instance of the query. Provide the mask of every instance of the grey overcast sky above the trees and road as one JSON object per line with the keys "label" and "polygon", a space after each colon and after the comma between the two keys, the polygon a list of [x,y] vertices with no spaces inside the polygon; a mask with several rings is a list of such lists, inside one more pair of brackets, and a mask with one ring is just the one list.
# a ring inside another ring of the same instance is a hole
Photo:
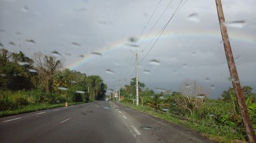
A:
{"label": "grey overcast sky above the trees and road", "polygon": [[[169,2],[161,1],[138,39],[158,0],[0,0],[0,43],[30,57],[57,51],[66,68],[98,74],[115,89],[115,81],[123,87],[135,76],[130,50],[137,50],[141,61],[180,0],[170,3],[145,38]],[[256,1],[223,0],[222,5],[240,81],[256,89]],[[139,80],[159,92],[179,91],[186,78],[196,79],[210,98],[218,98],[231,87],[226,63],[215,1],[188,0],[139,64]]]}

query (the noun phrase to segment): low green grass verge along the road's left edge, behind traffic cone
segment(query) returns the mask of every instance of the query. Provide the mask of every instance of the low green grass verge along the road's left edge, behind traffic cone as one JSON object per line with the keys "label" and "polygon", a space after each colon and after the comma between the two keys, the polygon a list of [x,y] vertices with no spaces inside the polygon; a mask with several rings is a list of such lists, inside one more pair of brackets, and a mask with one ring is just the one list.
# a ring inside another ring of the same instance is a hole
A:
{"label": "low green grass verge along the road's left edge, behind traffic cone", "polygon": [[[69,102],[69,106],[76,105],[76,104],[82,104],[82,103],[84,103],[84,102]],[[27,106],[22,106],[20,109],[17,109],[17,110],[0,111],[0,117],[18,115],[20,113],[50,109],[50,108],[61,107],[61,106],[64,107],[65,103],[45,104],[45,105],[43,105],[43,104],[30,104],[30,105],[27,105]]]}

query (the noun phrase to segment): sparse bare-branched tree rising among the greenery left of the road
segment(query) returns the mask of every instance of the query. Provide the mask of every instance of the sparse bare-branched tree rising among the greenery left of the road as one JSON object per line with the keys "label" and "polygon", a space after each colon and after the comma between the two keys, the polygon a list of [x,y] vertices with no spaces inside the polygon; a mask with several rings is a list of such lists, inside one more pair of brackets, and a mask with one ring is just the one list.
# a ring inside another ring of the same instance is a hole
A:
{"label": "sparse bare-branched tree rising among the greenery left of the road", "polygon": [[62,63],[55,56],[42,55],[41,52],[34,53],[34,61],[41,87],[47,93],[52,93],[54,74],[62,68]]}

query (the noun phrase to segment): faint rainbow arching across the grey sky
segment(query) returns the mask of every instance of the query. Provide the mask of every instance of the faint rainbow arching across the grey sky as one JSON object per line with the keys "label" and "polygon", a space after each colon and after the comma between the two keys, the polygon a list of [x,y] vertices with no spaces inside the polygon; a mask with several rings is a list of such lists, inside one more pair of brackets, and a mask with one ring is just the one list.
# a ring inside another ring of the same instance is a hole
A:
{"label": "faint rainbow arching across the grey sky", "polygon": [[[151,41],[155,36],[156,36],[155,33],[148,35],[144,42],[146,43],[146,42]],[[162,36],[160,37],[160,39],[162,40],[162,39],[170,39],[170,38],[177,38],[177,37],[198,37],[198,38],[219,38],[219,39],[221,39],[221,33],[220,33],[220,31],[202,31],[202,30],[185,31],[185,30],[181,30],[181,31],[164,32],[162,34]],[[242,35],[242,34],[237,34],[237,33],[229,33],[229,38],[230,38],[230,40],[233,40],[233,41],[241,41],[241,42],[245,42],[248,44],[256,45],[255,35],[249,35],[249,34]],[[144,39],[144,37],[142,36],[140,38],[140,40],[138,41],[138,43],[140,43],[143,39]],[[115,42],[111,43],[108,48],[106,48],[106,47],[98,48],[97,50],[95,50],[93,52],[101,53],[104,56],[105,54],[108,54],[111,51],[125,47],[126,46],[125,44],[127,44],[127,43],[128,43],[127,39],[121,39],[119,41],[115,41]],[[71,63],[70,65],[67,66],[67,68],[69,68],[71,70],[77,69],[78,67],[89,63],[90,61],[92,61],[93,59],[95,59],[97,57],[98,57],[98,55],[93,55],[93,54],[83,55],[82,59],[79,59],[79,60]]]}

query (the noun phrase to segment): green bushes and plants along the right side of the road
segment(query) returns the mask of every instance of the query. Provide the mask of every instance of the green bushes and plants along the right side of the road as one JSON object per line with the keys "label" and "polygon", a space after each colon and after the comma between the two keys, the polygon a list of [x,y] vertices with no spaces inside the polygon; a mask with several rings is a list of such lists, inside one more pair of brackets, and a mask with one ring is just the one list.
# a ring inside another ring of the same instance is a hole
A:
{"label": "green bushes and plants along the right side of the road", "polygon": [[[120,95],[124,96],[121,98],[122,102],[135,104],[134,81],[135,78],[130,85],[125,85],[120,90]],[[144,104],[169,116],[188,118],[193,125],[192,128],[199,128],[204,133],[226,136],[234,140],[245,139],[245,129],[232,88],[223,92],[223,98],[213,100],[207,98],[207,93],[195,80],[186,79],[181,84],[180,92],[165,91],[155,94],[154,91],[145,88],[144,83],[139,83],[139,87],[140,105]],[[252,90],[249,86],[243,87],[251,121],[256,128],[256,94],[252,93]]]}

